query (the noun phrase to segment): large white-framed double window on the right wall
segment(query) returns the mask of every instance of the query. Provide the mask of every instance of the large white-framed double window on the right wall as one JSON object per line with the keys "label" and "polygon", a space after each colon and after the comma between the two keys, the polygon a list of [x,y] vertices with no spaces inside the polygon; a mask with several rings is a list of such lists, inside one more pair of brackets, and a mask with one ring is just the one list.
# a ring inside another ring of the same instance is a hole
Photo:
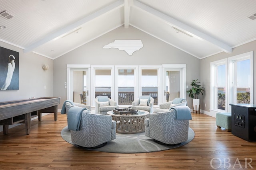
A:
{"label": "large white-framed double window on the right wall", "polygon": [[253,103],[252,64],[253,51],[211,63],[211,111],[230,112],[228,104]]}

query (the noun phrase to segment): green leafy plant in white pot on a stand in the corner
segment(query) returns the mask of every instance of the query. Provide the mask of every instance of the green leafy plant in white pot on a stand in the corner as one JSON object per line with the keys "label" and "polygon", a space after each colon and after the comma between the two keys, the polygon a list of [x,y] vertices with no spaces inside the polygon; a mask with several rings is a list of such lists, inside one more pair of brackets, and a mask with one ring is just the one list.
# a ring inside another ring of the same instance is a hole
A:
{"label": "green leafy plant in white pot on a stand in the corner", "polygon": [[200,100],[198,99],[199,94],[203,94],[204,88],[201,87],[201,83],[198,82],[198,79],[192,80],[192,88],[187,91],[187,94],[190,98],[193,99],[193,111],[200,111]]}

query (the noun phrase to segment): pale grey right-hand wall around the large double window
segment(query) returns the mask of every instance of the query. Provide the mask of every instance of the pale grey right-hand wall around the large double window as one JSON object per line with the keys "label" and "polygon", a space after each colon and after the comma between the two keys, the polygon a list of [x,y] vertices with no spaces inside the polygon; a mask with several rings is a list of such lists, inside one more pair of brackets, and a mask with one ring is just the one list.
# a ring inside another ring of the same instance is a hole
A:
{"label": "pale grey right-hand wall around the large double window", "polygon": [[[201,84],[205,88],[205,94],[204,96],[202,96],[202,100],[200,101],[201,102],[200,108],[206,111],[206,113],[210,112],[210,63],[213,61],[226,59],[228,57],[232,57],[235,55],[247,53],[249,51],[254,51],[254,56],[255,56],[256,41],[252,41],[250,43],[234,48],[231,54],[223,52],[223,53],[219,53],[211,57],[207,57],[205,59],[200,60],[200,68],[202,70],[200,73]],[[254,66],[255,64],[256,64],[256,60],[254,57]],[[254,69],[254,86],[255,84],[256,84],[256,70]],[[253,98],[254,98],[254,104],[255,104],[255,100],[256,100],[255,87],[253,91],[254,91]],[[206,104],[206,107],[204,106],[204,104]]]}

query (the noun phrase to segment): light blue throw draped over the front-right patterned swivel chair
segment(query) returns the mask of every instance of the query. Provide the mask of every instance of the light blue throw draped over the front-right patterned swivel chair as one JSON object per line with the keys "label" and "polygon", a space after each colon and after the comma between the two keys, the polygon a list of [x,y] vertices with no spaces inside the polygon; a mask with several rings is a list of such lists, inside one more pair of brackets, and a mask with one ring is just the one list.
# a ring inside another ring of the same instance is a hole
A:
{"label": "light blue throw draped over the front-right patterned swivel chair", "polygon": [[176,106],[171,109],[174,109],[176,112],[176,120],[192,120],[190,108],[188,106]]}

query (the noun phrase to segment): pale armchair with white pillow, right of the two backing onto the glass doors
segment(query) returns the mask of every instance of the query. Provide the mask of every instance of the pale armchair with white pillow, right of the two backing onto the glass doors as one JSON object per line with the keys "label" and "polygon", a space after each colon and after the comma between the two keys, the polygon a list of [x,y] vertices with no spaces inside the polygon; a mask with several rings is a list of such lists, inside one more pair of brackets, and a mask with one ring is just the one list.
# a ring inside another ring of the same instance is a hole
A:
{"label": "pale armchair with white pillow, right of the two backing onto the glass doors", "polygon": [[[142,100],[147,100],[146,104],[142,103]],[[132,102],[132,107],[135,107],[135,109],[137,110],[145,110],[148,111],[149,113],[153,113],[154,112],[154,98],[152,98],[151,96],[140,96],[138,99],[135,99]]]}

